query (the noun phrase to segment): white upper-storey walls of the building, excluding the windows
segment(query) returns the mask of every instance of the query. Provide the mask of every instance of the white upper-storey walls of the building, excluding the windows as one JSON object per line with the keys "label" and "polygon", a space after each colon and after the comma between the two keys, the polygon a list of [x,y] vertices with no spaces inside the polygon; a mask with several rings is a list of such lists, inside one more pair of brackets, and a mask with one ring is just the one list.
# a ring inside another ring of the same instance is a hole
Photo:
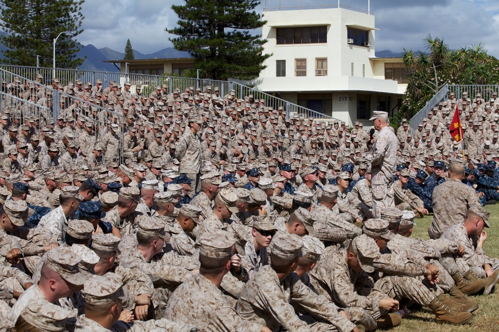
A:
{"label": "white upper-storey walls of the building, excluding the windows", "polygon": [[[374,15],[347,9],[304,9],[266,11],[263,19],[267,24],[262,36],[268,42],[265,53],[272,54],[265,62],[266,69],[260,77],[275,77],[275,60],[286,60],[286,76],[294,76],[294,59],[307,59],[307,77],[315,77],[315,58],[327,58],[328,76],[350,76],[354,63],[354,76],[362,77],[362,65],[366,65],[366,77],[373,77],[369,57],[374,56]],[[276,27],[327,26],[327,43],[277,45]],[[347,44],[347,26],[369,31],[370,47]],[[303,79],[304,77],[300,77]]]}

